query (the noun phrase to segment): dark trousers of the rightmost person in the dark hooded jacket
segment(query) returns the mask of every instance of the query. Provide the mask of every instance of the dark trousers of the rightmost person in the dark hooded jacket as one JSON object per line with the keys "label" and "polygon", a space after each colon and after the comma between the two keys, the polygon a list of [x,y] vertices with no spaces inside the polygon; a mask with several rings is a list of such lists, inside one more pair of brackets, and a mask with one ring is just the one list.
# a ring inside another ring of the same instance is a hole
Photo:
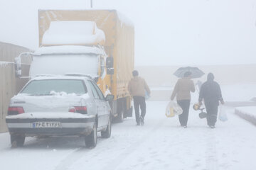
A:
{"label": "dark trousers of the rightmost person in the dark hooded jacket", "polygon": [[218,105],[206,105],[206,112],[207,125],[215,126],[215,123],[217,122]]}

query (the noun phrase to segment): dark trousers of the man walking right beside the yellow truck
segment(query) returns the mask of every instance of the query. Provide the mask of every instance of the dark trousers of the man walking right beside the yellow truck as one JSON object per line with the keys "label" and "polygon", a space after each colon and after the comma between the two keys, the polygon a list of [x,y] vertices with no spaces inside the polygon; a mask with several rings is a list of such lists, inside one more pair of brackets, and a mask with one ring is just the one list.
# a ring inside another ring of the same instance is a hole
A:
{"label": "dark trousers of the man walking right beside the yellow truck", "polygon": [[134,110],[136,115],[136,122],[139,123],[139,108],[142,111],[141,116],[142,118],[144,118],[146,115],[146,102],[145,102],[145,98],[142,96],[134,96],[133,98],[134,98]]}

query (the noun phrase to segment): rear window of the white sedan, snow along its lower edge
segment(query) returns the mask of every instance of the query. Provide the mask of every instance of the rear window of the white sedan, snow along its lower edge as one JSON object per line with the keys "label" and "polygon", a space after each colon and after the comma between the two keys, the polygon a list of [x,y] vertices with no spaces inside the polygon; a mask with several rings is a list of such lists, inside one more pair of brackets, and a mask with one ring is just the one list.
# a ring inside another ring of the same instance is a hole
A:
{"label": "rear window of the white sedan, snow along its lower edge", "polygon": [[82,80],[75,79],[45,79],[31,81],[21,94],[30,95],[53,95],[56,93],[66,94],[86,94],[87,89]]}

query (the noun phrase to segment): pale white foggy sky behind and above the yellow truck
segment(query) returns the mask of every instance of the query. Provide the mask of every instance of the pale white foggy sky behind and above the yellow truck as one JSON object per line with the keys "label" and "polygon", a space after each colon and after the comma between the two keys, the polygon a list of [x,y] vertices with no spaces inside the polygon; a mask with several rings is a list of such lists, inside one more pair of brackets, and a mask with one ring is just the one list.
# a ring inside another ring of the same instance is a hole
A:
{"label": "pale white foggy sky behind and above the yellow truck", "polygon": [[[0,0],[0,41],[35,50],[38,8],[90,0]],[[135,65],[255,64],[256,0],[94,0],[134,23]]]}

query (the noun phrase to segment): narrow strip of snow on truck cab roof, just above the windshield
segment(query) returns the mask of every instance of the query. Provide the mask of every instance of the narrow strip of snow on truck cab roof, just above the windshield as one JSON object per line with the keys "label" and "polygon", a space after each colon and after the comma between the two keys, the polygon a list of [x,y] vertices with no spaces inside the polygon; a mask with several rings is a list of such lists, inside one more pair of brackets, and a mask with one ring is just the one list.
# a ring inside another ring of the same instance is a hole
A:
{"label": "narrow strip of snow on truck cab roof, just above the windshield", "polygon": [[82,46],[82,45],[60,45],[60,46],[46,46],[39,47],[34,52],[36,55],[50,55],[50,54],[104,54],[103,50],[96,46]]}

